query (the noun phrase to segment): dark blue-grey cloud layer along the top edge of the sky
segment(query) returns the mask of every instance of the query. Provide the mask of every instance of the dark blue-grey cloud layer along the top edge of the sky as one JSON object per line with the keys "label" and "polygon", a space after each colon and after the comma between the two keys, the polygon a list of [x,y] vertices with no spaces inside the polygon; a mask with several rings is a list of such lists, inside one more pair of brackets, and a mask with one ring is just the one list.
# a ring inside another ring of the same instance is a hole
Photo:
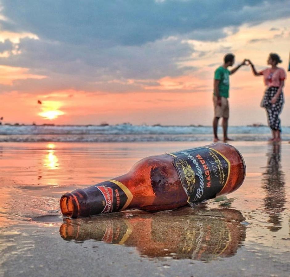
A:
{"label": "dark blue-grey cloud layer along the top edge of the sky", "polygon": [[[272,6],[263,0],[71,0],[69,4],[65,0],[2,0],[3,15],[10,19],[2,21],[2,28],[97,47],[142,45],[177,34],[195,31],[196,37],[202,37],[202,31],[288,16],[290,8],[285,7],[289,1],[277,2],[272,13]],[[266,14],[265,8],[270,9]]]}

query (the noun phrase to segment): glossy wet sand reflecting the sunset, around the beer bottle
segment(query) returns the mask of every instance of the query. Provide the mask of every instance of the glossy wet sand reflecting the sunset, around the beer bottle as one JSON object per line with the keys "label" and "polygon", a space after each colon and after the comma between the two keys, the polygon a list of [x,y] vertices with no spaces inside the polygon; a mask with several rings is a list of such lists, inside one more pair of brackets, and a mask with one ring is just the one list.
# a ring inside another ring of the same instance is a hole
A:
{"label": "glossy wet sand reflecting the sunset, around the beer bottle", "polygon": [[0,143],[0,276],[290,276],[290,144],[232,143],[247,175],[195,209],[64,219],[59,198],[206,145]]}

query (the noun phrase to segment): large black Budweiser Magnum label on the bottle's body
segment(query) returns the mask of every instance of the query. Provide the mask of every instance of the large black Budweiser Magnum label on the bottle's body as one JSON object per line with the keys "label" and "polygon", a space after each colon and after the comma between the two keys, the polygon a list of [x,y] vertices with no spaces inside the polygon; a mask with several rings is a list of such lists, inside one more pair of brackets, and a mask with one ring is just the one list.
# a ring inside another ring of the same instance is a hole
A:
{"label": "large black Budweiser Magnum label on the bottle's body", "polygon": [[214,198],[226,186],[231,163],[219,151],[197,147],[169,155],[174,157],[174,167],[191,207]]}

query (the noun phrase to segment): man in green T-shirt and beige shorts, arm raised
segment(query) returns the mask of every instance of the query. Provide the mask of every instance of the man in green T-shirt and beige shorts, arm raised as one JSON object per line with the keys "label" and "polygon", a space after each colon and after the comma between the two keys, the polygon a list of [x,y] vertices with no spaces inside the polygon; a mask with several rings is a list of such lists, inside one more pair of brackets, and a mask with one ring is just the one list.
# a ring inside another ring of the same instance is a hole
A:
{"label": "man in green T-shirt and beige shorts, arm raised", "polygon": [[232,140],[229,139],[227,136],[227,126],[228,126],[228,119],[229,119],[229,87],[230,87],[230,80],[229,75],[234,74],[241,66],[246,64],[246,59],[238,65],[237,67],[233,68],[231,71],[227,68],[229,66],[233,66],[235,63],[235,56],[233,54],[226,54],[224,56],[224,63],[222,66],[219,66],[214,71],[214,120],[213,120],[213,130],[214,130],[214,142],[218,142],[218,123],[219,118],[223,118],[223,141]]}

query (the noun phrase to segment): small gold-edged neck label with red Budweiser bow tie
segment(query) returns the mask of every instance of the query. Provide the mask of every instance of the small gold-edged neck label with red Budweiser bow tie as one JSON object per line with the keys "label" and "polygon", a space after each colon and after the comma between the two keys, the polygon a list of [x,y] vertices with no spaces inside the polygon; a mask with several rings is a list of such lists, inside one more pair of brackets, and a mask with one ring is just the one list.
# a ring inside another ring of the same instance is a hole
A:
{"label": "small gold-edged neck label with red Budweiser bow tie", "polygon": [[100,214],[113,213],[125,210],[130,204],[133,195],[129,189],[116,180],[108,180],[95,186],[100,190],[104,200]]}

